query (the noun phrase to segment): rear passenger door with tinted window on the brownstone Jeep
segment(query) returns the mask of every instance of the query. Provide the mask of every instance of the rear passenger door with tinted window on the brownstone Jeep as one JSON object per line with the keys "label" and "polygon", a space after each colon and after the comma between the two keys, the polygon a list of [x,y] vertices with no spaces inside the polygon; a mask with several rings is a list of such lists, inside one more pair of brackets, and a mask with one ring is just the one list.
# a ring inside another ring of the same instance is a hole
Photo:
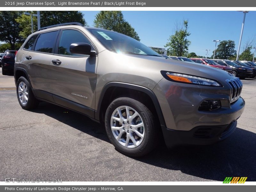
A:
{"label": "rear passenger door with tinted window on the brownstone Jeep", "polygon": [[[31,42],[28,41],[24,46],[24,50],[27,50],[27,52],[25,53],[23,63],[28,70],[31,85],[33,89],[36,89],[36,96],[40,98],[43,98],[43,95],[37,94],[38,90],[44,92],[51,92],[52,90],[49,64],[58,33],[59,30],[55,30],[33,36]],[[36,43],[33,43],[34,38],[36,38]]]}

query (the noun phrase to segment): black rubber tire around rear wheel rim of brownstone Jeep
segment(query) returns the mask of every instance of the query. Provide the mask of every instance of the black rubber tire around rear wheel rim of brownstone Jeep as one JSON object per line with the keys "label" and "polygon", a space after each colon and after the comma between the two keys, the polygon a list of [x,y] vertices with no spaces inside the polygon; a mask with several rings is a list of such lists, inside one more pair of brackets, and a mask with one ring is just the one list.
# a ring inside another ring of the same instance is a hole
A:
{"label": "black rubber tire around rear wheel rim of brownstone Jeep", "polygon": [[[27,87],[28,100],[25,104],[23,104],[21,102],[20,97],[19,97],[19,85],[20,85],[21,82],[23,82]],[[20,106],[23,109],[29,110],[29,109],[34,109],[38,106],[39,101],[35,98],[32,90],[31,90],[31,86],[30,86],[28,80],[23,76],[21,76],[17,81],[16,93],[17,93],[17,98],[18,98],[18,101],[20,103]]]}

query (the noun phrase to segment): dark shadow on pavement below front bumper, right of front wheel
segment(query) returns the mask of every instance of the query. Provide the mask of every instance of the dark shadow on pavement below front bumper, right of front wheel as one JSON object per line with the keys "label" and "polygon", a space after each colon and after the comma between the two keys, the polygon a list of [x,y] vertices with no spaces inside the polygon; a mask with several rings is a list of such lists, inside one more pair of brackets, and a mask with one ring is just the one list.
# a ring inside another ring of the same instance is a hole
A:
{"label": "dark shadow on pavement below front bumper, right of front wheel", "polygon": [[225,177],[248,177],[256,180],[256,134],[236,128],[226,140],[208,146],[162,146],[138,161],[180,170],[196,177],[224,181]]}

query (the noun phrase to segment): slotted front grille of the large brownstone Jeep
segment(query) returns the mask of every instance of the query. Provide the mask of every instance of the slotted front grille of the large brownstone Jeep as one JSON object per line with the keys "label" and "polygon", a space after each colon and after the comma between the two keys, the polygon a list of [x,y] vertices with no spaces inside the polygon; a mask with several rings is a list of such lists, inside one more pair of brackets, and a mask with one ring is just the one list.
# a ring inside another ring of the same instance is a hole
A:
{"label": "slotted front grille of the large brownstone Jeep", "polygon": [[231,87],[230,102],[236,101],[242,92],[243,84],[239,78],[226,80],[228,85]]}

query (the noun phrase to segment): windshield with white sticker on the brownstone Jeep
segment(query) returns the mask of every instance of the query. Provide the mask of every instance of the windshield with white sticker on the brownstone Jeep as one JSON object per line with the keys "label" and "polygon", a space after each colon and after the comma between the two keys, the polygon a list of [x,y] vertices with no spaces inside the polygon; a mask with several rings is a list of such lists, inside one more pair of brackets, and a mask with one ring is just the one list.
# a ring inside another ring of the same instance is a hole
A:
{"label": "windshield with white sticker on the brownstone Jeep", "polygon": [[153,51],[148,46],[140,43],[132,37],[116,33],[113,31],[106,31],[94,28],[87,29],[109,51],[123,54],[153,55],[162,57],[157,52]]}

